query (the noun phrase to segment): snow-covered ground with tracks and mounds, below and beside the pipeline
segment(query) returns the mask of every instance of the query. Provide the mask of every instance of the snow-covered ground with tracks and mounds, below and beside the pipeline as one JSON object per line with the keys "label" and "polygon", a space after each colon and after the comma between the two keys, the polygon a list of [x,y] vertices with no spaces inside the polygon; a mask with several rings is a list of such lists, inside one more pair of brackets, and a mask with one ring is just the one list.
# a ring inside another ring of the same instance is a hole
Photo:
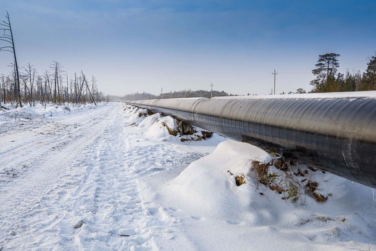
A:
{"label": "snow-covered ground with tracks and mounds, below and beside the pipeline", "polygon": [[126,108],[0,112],[0,250],[376,250],[369,187],[311,170],[294,179],[317,181],[324,203],[247,175],[237,186],[273,156],[218,135],[181,142],[171,118]]}

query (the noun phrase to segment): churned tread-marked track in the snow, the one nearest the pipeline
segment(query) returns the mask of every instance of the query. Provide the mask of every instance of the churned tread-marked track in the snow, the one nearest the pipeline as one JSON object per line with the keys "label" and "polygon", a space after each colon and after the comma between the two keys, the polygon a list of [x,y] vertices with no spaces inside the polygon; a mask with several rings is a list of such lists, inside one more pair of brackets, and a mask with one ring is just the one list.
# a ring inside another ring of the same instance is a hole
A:
{"label": "churned tread-marked track in the snow, the one nearest the pipeline", "polygon": [[[60,227],[68,231],[60,234],[62,239],[76,236],[65,243],[65,249],[157,250],[142,222],[147,210],[140,203],[136,180],[124,162],[133,154],[124,142],[123,128],[123,116],[116,115],[94,146],[83,153],[91,156],[81,164],[86,173],[64,198],[70,214]],[[80,221],[85,223],[74,230],[73,224]]]}

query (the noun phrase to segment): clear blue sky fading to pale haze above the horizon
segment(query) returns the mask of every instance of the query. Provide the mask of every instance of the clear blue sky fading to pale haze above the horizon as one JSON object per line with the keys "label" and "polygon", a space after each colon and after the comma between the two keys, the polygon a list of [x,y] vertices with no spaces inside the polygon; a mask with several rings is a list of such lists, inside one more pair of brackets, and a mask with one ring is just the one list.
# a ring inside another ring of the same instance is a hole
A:
{"label": "clear blue sky fading to pale haze above the horizon", "polygon": [[[2,0],[20,66],[53,60],[109,94],[214,89],[267,94],[311,89],[319,54],[364,71],[376,50],[376,1]],[[3,15],[2,15],[3,16]],[[4,20],[4,18],[3,18]],[[0,73],[11,69],[0,53]],[[360,62],[354,62],[360,61]],[[353,63],[352,63],[353,62]]]}

